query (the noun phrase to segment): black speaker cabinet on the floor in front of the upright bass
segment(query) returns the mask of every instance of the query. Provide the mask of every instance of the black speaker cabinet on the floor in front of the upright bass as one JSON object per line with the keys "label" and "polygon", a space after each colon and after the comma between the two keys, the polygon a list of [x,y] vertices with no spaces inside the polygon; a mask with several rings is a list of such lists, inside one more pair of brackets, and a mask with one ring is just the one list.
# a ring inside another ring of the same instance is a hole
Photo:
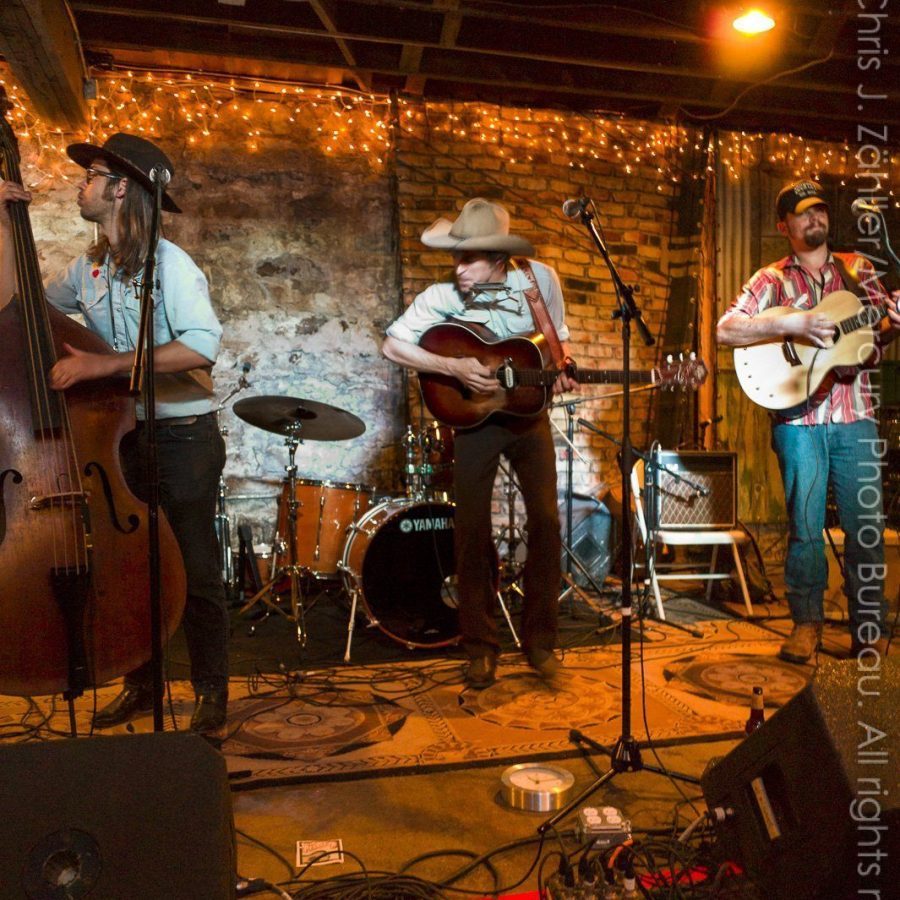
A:
{"label": "black speaker cabinet on the floor in front of the upright bass", "polygon": [[235,896],[225,761],[199,735],[0,747],[0,897]]}

